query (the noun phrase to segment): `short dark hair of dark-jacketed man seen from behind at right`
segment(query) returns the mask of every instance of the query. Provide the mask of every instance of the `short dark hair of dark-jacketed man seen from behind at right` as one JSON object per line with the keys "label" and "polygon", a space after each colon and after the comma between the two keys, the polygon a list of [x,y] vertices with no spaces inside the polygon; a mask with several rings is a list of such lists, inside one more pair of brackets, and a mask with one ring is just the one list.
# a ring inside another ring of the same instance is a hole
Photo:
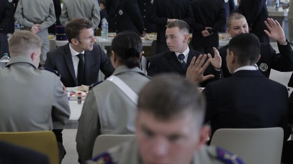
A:
{"label": "short dark hair of dark-jacketed man seen from behind at right", "polygon": [[242,65],[255,64],[260,55],[259,40],[251,33],[234,36],[229,42],[228,49],[237,56],[237,62]]}

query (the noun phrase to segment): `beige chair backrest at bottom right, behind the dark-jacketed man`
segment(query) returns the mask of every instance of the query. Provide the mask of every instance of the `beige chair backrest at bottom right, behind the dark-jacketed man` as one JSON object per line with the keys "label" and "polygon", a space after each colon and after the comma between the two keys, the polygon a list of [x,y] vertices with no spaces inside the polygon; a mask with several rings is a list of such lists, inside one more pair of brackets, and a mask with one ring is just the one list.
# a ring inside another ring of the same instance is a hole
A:
{"label": "beige chair backrest at bottom right, behind the dark-jacketed man", "polygon": [[282,128],[223,128],[215,131],[210,145],[237,154],[245,164],[280,164]]}

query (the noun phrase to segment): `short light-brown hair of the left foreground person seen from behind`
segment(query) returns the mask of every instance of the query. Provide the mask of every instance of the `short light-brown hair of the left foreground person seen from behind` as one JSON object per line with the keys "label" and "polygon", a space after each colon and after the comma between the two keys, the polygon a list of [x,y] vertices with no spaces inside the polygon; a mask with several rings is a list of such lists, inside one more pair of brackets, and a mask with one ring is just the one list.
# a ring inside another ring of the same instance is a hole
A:
{"label": "short light-brown hair of the left foreground person seen from behind", "polygon": [[41,49],[41,47],[42,39],[30,31],[16,31],[9,39],[9,52],[11,56],[27,55],[26,51]]}

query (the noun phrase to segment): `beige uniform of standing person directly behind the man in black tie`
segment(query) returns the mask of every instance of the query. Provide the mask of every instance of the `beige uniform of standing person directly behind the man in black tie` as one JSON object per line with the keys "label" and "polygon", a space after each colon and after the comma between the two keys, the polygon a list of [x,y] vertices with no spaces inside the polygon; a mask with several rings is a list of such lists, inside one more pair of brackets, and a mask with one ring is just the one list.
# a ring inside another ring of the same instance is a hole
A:
{"label": "beige uniform of standing person directly behind the man in black tie", "polygon": [[93,29],[100,23],[100,6],[98,0],[64,0],[60,22],[63,26],[74,18],[87,18],[93,22]]}

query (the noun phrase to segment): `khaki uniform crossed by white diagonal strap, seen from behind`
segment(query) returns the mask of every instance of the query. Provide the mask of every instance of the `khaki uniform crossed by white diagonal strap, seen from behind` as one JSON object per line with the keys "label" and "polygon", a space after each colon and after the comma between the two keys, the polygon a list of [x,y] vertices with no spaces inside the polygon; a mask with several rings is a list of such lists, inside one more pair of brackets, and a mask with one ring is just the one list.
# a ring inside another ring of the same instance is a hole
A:
{"label": "khaki uniform crossed by white diagonal strap, seen from behind", "polygon": [[[138,67],[120,66],[113,73],[137,94],[150,80]],[[137,106],[110,81],[89,91],[84,102],[76,142],[82,161],[91,159],[95,139],[100,134],[133,134]]]}

